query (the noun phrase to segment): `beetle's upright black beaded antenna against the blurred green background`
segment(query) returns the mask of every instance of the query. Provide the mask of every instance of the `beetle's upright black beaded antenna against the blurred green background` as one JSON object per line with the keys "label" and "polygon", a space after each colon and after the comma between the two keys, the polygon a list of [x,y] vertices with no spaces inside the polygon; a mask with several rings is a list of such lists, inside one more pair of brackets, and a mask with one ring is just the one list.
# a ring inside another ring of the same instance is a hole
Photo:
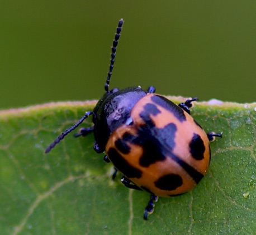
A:
{"label": "beetle's upright black beaded antenna against the blurred green background", "polygon": [[116,57],[116,47],[118,45],[118,39],[120,38],[120,32],[122,30],[123,23],[124,23],[124,19],[120,19],[120,21],[118,22],[118,27],[116,28],[116,35],[115,35],[115,39],[113,40],[113,46],[111,48],[112,53],[111,53],[111,59],[110,59],[110,70],[108,71],[107,80],[105,84],[106,92],[108,92],[108,87],[110,86],[110,78],[112,75],[112,71],[115,63],[115,57]]}

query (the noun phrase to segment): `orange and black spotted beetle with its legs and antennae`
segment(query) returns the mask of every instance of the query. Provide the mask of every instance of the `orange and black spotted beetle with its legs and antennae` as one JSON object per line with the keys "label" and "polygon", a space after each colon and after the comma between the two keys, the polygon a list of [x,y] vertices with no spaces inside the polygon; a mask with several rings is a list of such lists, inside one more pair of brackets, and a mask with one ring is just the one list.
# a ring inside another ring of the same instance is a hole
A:
{"label": "orange and black spotted beetle with its legs and antennae", "polygon": [[113,163],[115,172],[124,176],[121,182],[130,189],[150,193],[144,219],[153,212],[158,197],[171,197],[188,192],[206,174],[211,158],[210,141],[222,133],[205,133],[190,115],[192,102],[174,104],[162,95],[155,94],[155,87],[143,90],[140,86],[109,90],[116,57],[116,48],[123,19],[113,40],[110,68],[105,94],[93,111],[64,131],[46,148],[49,153],[66,135],[92,115],[93,126],[80,128],[75,137],[94,134],[94,150],[105,152],[104,160]]}

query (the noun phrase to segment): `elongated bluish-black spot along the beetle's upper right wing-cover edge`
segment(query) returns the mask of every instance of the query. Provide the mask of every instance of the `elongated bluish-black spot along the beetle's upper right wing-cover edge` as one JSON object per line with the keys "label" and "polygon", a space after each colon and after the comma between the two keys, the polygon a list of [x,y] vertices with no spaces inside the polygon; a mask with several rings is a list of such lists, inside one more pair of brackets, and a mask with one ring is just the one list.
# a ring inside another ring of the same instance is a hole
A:
{"label": "elongated bluish-black spot along the beetle's upper right wing-cover edge", "polygon": [[168,100],[165,97],[160,96],[160,95],[151,96],[151,100],[155,104],[163,107],[164,109],[168,110],[169,112],[172,112],[172,114],[174,116],[176,116],[179,121],[181,121],[181,122],[186,121],[186,116],[184,114],[184,111],[181,109],[181,107],[174,104],[172,101],[170,101],[170,100]]}

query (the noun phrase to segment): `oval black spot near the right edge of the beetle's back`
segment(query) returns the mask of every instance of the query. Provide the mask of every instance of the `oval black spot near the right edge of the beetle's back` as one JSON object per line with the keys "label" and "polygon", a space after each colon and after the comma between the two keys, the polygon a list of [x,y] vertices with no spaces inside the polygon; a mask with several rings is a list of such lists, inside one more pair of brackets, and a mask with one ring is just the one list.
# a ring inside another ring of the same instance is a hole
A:
{"label": "oval black spot near the right edge of the beetle's back", "polygon": [[202,160],[204,158],[203,153],[205,153],[205,145],[200,135],[193,134],[193,138],[189,143],[189,151],[196,160]]}

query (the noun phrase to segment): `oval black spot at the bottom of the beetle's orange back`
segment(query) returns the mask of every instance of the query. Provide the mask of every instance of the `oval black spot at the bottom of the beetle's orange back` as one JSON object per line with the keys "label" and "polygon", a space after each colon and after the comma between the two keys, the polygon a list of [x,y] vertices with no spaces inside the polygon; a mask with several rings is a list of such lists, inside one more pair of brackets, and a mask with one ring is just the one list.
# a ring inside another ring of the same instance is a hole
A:
{"label": "oval black spot at the bottom of the beetle's orange back", "polygon": [[182,178],[177,174],[168,174],[155,182],[155,187],[162,190],[174,190],[183,184]]}

